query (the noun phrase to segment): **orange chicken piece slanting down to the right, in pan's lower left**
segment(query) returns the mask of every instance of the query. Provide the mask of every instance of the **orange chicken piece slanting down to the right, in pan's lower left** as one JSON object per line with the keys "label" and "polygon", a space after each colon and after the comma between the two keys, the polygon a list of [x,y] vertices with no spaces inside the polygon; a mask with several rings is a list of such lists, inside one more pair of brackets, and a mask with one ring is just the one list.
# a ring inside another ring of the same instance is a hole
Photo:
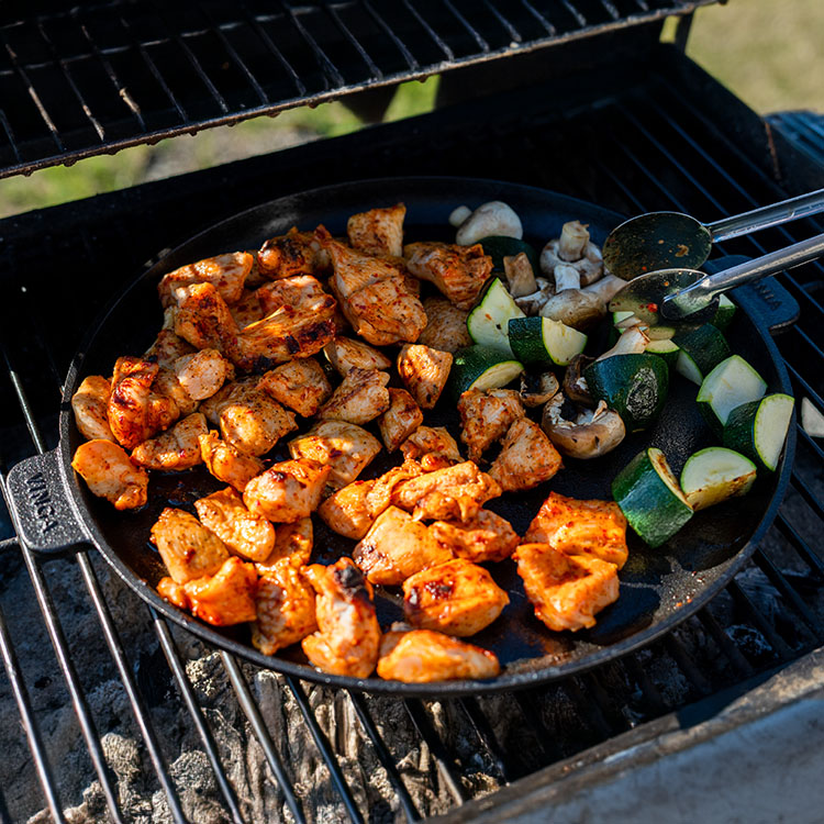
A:
{"label": "orange chicken piece slanting down to the right, in pan's lower left", "polygon": [[194,501],[200,522],[211,530],[230,553],[246,560],[266,560],[275,548],[275,527],[254,515],[232,487]]}

